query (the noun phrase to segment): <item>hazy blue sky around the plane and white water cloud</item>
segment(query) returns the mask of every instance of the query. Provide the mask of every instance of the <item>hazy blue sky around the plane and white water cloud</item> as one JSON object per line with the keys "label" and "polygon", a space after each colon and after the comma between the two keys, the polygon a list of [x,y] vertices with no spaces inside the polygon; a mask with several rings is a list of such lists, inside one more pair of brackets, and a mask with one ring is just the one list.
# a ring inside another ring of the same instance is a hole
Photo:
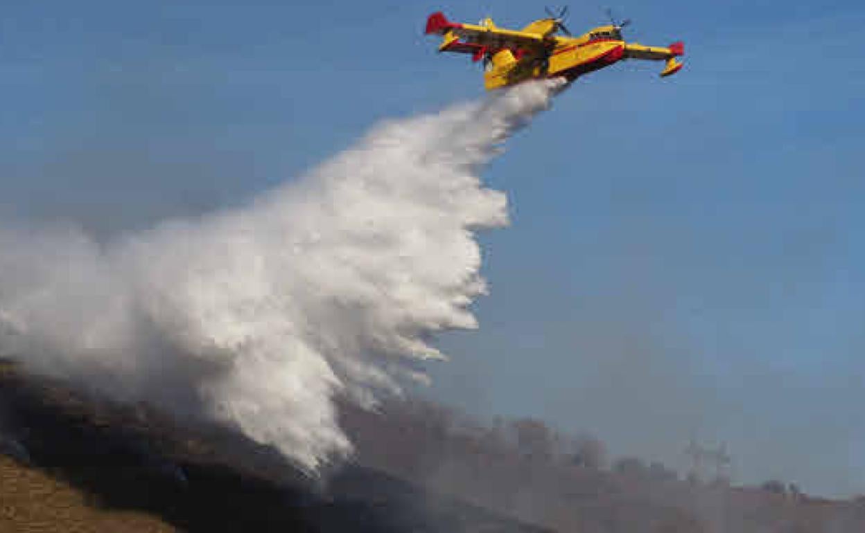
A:
{"label": "hazy blue sky around the plane and white water cloud", "polygon": [[[572,3],[573,31],[605,4]],[[613,3],[686,67],[581,79],[485,177],[479,332],[428,391],[674,466],[727,441],[742,481],[865,492],[865,8]],[[520,26],[542,3],[10,2],[0,216],[101,238],[249,199],[377,120],[483,96],[426,16]]]}

